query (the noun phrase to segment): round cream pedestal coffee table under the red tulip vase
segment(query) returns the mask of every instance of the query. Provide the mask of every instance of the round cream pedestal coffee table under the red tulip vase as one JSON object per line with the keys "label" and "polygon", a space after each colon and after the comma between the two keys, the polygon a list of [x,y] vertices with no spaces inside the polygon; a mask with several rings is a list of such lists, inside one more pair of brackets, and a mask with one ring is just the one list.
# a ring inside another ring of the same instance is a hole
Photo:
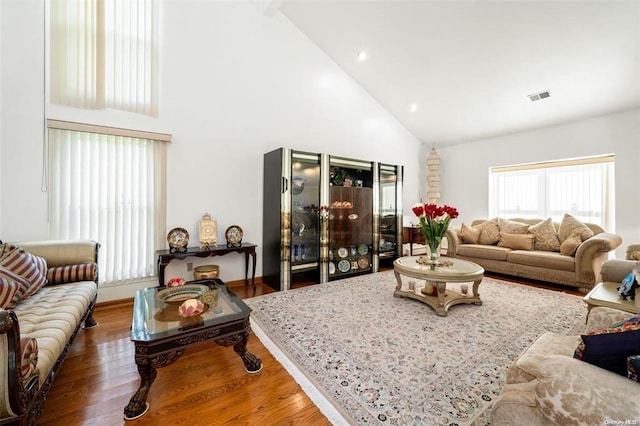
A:
{"label": "round cream pedestal coffee table under the red tulip vase", "polygon": [[[436,314],[446,317],[451,306],[460,303],[473,303],[482,305],[478,287],[484,277],[484,268],[467,260],[445,258],[441,265],[422,264],[418,260],[422,256],[400,257],[393,262],[393,271],[396,276],[396,289],[393,292],[395,297],[408,297],[419,300],[435,309]],[[402,275],[406,277],[423,280],[425,283],[435,285],[438,289],[437,296],[422,293],[416,290],[403,289]],[[472,282],[472,293],[462,294],[459,291],[447,288],[447,283],[469,283]]]}

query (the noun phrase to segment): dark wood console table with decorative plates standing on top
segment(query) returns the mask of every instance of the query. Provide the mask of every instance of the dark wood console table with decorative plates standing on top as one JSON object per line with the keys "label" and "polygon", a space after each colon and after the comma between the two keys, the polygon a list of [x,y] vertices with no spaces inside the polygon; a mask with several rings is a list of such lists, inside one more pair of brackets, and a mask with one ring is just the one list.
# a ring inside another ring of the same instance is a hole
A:
{"label": "dark wood console table with decorative plates standing on top", "polygon": [[169,262],[174,259],[184,259],[190,256],[194,257],[209,257],[209,256],[224,256],[227,253],[244,253],[244,284],[249,284],[249,256],[253,259],[253,268],[251,273],[251,285],[253,289],[256,289],[256,245],[252,243],[242,243],[238,246],[227,247],[226,244],[219,244],[216,246],[208,246],[205,249],[200,247],[187,247],[186,251],[170,250],[158,250],[158,281],[160,287],[164,287],[164,269]]}

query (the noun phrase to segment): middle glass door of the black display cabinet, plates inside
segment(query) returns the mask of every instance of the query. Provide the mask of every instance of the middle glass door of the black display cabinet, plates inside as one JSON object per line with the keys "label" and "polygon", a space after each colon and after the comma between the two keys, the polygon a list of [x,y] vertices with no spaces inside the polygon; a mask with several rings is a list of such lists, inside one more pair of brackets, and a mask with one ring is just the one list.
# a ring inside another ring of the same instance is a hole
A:
{"label": "middle glass door of the black display cabinet, plates inside", "polygon": [[371,163],[331,158],[329,171],[329,280],[372,271]]}

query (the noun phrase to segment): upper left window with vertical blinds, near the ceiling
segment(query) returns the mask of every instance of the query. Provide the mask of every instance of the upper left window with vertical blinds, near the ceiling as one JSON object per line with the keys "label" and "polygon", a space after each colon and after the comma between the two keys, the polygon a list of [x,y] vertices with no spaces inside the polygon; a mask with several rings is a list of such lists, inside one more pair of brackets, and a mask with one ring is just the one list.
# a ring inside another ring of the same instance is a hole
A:
{"label": "upper left window with vertical blinds, near the ceiling", "polygon": [[51,102],[156,116],[154,4],[153,0],[52,0]]}

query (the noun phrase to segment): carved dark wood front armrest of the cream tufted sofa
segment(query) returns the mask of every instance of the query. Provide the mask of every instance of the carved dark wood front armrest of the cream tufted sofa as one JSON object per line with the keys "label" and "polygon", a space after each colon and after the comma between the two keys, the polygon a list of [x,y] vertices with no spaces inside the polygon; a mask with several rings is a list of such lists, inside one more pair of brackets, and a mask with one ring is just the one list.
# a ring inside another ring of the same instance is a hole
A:
{"label": "carved dark wood front armrest of the cream tufted sofa", "polygon": [[[24,414],[38,390],[38,375],[29,372],[28,380],[22,374],[20,326],[13,311],[0,309],[0,417]],[[27,356],[28,358],[28,356]]]}

